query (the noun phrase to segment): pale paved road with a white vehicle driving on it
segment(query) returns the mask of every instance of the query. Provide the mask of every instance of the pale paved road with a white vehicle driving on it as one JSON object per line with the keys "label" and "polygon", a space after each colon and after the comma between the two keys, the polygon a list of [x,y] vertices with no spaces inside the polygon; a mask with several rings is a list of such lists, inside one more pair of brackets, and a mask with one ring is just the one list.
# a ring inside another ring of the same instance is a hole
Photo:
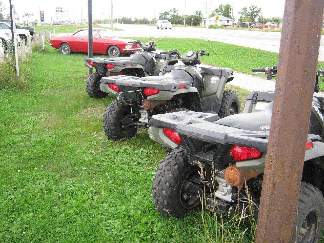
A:
{"label": "pale paved road with a white vehicle driving on it", "polygon": [[[109,25],[106,25],[109,27]],[[182,37],[206,38],[206,29],[191,27],[173,27],[172,29],[156,29],[147,25],[115,25],[123,31],[114,31],[119,37]],[[221,41],[229,44],[257,48],[260,50],[279,52],[281,32],[209,29],[209,40]],[[324,62],[324,38],[319,49],[319,61]]]}

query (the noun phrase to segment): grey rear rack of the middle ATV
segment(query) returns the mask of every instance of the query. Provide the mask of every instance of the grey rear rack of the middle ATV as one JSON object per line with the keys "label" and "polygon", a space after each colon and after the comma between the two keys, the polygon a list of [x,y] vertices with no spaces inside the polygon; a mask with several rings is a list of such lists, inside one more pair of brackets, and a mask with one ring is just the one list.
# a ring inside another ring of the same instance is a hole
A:
{"label": "grey rear rack of the middle ATV", "polygon": [[[154,76],[157,79],[158,76]],[[153,78],[152,78],[153,79]],[[102,77],[100,83],[104,84],[116,84],[121,86],[131,86],[131,87],[145,87],[145,88],[156,88],[159,90],[171,90],[177,91],[179,86],[183,85],[185,88],[190,88],[191,83],[188,81],[177,81],[177,80],[140,80],[140,77],[133,77],[127,75]]]}

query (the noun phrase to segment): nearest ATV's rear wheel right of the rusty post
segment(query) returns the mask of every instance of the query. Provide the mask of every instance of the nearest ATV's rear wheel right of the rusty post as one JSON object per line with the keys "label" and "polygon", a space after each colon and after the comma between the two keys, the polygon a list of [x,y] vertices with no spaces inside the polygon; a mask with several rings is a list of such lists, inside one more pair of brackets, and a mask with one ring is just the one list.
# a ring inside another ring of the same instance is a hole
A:
{"label": "nearest ATV's rear wheel right of the rusty post", "polygon": [[321,191],[311,184],[301,182],[292,242],[319,242],[324,224],[323,215],[324,198]]}

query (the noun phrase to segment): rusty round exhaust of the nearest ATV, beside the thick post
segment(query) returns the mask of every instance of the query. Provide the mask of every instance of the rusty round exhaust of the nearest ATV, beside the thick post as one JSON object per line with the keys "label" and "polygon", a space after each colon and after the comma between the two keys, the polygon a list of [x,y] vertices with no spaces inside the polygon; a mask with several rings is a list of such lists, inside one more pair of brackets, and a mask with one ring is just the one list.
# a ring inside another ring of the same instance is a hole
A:
{"label": "rusty round exhaust of the nearest ATV, beside the thick post", "polygon": [[246,180],[256,177],[260,173],[258,171],[237,168],[236,164],[234,164],[225,169],[224,179],[231,186],[237,186],[238,189],[241,189]]}

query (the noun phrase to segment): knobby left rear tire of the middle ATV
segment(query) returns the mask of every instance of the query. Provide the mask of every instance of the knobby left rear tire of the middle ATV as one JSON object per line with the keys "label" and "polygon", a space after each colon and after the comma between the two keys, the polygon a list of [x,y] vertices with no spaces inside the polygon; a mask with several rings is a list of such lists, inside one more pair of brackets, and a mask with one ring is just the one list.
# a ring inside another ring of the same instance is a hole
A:
{"label": "knobby left rear tire of the middle ATV", "polygon": [[116,99],[109,104],[102,120],[102,126],[109,139],[119,141],[123,138],[132,138],[135,135],[136,127],[121,128],[121,118],[130,111],[131,108],[125,106],[122,99]]}

